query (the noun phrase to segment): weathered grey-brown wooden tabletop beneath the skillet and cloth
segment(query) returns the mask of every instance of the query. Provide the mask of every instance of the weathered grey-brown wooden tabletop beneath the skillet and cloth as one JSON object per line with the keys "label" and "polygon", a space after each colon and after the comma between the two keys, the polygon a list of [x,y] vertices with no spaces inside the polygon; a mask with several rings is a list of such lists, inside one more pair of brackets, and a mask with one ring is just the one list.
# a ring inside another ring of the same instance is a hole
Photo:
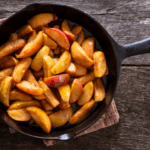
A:
{"label": "weathered grey-brown wooden tabletop beneath the skillet and cloth", "polygon": [[[40,0],[0,0],[0,18]],[[43,0],[66,4],[95,18],[119,43],[129,44],[150,36],[149,0]],[[46,147],[40,139],[10,134],[0,121],[0,150],[149,150],[150,149],[150,54],[123,61],[115,94],[120,122],[114,126]]]}

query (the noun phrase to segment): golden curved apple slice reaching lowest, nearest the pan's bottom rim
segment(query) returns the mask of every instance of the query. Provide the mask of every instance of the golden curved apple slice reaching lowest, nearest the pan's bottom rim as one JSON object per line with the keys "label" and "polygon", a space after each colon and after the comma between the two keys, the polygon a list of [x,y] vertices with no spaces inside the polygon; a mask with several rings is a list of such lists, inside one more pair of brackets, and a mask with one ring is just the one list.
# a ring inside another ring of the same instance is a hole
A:
{"label": "golden curved apple slice reaching lowest, nearest the pan's bottom rim", "polygon": [[35,122],[45,131],[47,134],[51,131],[51,121],[48,115],[41,108],[31,106],[26,109],[35,120]]}

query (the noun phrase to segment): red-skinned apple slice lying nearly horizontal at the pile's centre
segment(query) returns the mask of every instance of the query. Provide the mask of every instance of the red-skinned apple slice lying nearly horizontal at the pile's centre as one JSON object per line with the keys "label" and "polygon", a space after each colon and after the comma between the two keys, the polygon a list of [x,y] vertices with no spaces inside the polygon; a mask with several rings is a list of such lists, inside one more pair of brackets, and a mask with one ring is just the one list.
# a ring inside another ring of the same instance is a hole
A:
{"label": "red-skinned apple slice lying nearly horizontal at the pile's centre", "polygon": [[61,75],[44,78],[44,82],[47,84],[47,86],[50,87],[58,87],[61,85],[65,85],[69,82],[69,80],[70,80],[69,74],[61,74]]}

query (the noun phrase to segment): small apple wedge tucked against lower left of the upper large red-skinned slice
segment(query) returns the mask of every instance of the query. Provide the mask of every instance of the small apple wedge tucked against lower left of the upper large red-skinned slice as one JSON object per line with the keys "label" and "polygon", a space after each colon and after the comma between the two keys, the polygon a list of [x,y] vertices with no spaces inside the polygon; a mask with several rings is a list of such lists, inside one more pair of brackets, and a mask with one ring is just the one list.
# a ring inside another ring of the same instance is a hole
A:
{"label": "small apple wedge tucked against lower left of the upper large red-skinned slice", "polygon": [[50,49],[57,48],[57,43],[54,40],[52,40],[50,37],[48,37],[45,33],[43,33],[43,36],[44,36],[43,45],[48,46]]}

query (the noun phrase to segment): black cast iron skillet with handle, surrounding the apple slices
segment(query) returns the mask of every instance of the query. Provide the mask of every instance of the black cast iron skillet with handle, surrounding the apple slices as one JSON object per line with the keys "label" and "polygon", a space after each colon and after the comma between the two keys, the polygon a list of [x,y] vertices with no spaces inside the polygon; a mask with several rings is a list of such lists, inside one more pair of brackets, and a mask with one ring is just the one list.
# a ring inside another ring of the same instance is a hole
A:
{"label": "black cast iron skillet with handle, surrounding the apple slices", "polygon": [[97,21],[86,13],[70,6],[38,3],[28,5],[2,23],[0,26],[0,45],[7,41],[10,33],[15,32],[21,26],[25,25],[28,19],[38,13],[44,12],[55,13],[59,18],[82,25],[97,39],[105,53],[109,68],[109,75],[105,78],[106,98],[103,102],[98,103],[94,111],[81,123],[74,126],[58,128],[57,130],[53,130],[49,135],[45,134],[38,127],[28,126],[26,123],[12,120],[6,113],[6,107],[2,104],[0,104],[0,118],[13,129],[32,137],[68,140],[89,128],[103,115],[109,107],[115,93],[121,62],[129,56],[148,53],[150,51],[150,38],[129,45],[119,45]]}

